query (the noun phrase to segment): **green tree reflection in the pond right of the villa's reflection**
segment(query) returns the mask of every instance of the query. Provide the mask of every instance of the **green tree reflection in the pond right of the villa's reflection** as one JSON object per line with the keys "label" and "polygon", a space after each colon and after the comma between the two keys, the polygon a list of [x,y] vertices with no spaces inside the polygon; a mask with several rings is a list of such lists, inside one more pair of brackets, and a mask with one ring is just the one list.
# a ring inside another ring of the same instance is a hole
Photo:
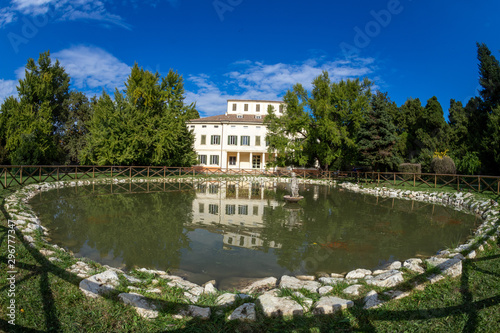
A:
{"label": "green tree reflection in the pond right of the villa's reflection", "polygon": [[[395,257],[432,255],[469,234],[469,228],[457,228],[457,221],[466,216],[452,208],[403,200],[393,203],[328,187],[319,187],[314,195],[313,189],[301,186],[304,199],[299,210],[283,206],[264,211],[261,237],[282,244],[275,254],[290,271],[311,262],[310,268],[306,265],[309,273],[373,268]],[[280,186],[276,197],[287,191]],[[301,223],[292,227],[297,218]],[[448,222],[439,225],[436,220]]]}

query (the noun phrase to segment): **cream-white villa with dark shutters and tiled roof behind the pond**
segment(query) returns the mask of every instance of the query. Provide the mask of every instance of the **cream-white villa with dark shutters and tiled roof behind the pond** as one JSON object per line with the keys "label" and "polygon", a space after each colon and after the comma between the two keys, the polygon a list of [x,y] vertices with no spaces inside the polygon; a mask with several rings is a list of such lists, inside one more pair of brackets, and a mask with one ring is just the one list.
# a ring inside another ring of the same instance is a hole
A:
{"label": "cream-white villa with dark shutters and tiled roof behind the pond", "polygon": [[[228,100],[223,115],[192,119],[198,165],[221,170],[264,170],[272,155],[267,152],[264,117],[269,106],[279,116],[281,101]],[[270,156],[271,155],[271,156]]]}

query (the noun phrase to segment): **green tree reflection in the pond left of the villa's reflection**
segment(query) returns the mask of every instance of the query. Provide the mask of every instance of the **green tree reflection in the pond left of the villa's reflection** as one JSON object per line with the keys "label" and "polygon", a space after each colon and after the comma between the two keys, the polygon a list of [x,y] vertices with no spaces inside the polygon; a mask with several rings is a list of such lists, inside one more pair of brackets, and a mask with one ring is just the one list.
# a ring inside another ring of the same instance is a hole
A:
{"label": "green tree reflection in the pond left of the villa's reflection", "polygon": [[[74,252],[87,242],[101,257],[112,253],[127,266],[179,265],[181,249],[189,246],[184,224],[192,221],[194,191],[83,197],[72,191],[61,190],[60,196],[46,192],[46,203],[34,205],[42,223],[51,221],[51,229],[57,226],[51,230],[54,239],[70,240],[68,247]],[[51,196],[58,198],[51,201]]]}

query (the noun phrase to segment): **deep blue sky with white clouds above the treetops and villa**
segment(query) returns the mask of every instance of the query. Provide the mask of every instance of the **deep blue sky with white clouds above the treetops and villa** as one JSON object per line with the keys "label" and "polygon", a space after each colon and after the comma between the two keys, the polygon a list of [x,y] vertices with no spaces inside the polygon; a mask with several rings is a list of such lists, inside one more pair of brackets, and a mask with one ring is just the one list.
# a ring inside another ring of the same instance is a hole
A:
{"label": "deep blue sky with white clouds above the treetops and villa", "polygon": [[0,1],[0,102],[16,94],[28,58],[51,51],[89,95],[123,89],[130,67],[185,79],[202,115],[227,99],[280,99],[368,77],[398,105],[477,95],[476,41],[500,58],[494,0],[4,0]]}

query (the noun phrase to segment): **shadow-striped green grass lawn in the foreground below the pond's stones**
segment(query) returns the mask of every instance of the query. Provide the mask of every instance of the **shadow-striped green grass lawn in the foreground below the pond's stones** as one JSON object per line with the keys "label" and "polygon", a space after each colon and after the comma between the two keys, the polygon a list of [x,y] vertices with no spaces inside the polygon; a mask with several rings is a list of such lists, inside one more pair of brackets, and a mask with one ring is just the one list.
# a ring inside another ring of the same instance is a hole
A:
{"label": "shadow-striped green grass lawn in the foreground below the pond's stones", "polygon": [[[412,189],[412,188],[408,188]],[[16,188],[0,191],[0,198]],[[3,207],[3,206],[2,206]],[[141,318],[131,307],[118,301],[117,293],[90,299],[79,290],[80,278],[66,272],[74,262],[61,252],[60,261],[47,260],[28,246],[20,234],[15,237],[15,326],[8,323],[10,283],[8,267],[8,223],[5,210],[0,214],[0,330],[6,332],[499,332],[500,331],[500,240],[490,242],[475,259],[463,262],[459,278],[446,278],[428,284],[409,297],[376,308],[363,310],[362,299],[335,316],[265,318],[258,313],[254,323],[228,322],[234,309],[219,309],[216,296],[200,300],[212,308],[209,321],[173,319],[182,302],[179,290],[160,287],[165,293],[157,299],[162,310],[157,319]],[[144,276],[143,276],[144,278]],[[147,277],[146,277],[147,278]],[[152,278],[152,277],[150,277]],[[419,277],[413,277],[418,280]],[[409,283],[407,283],[409,285]],[[121,287],[117,289],[120,290]],[[336,291],[340,292],[340,291]],[[253,295],[255,297],[255,295]],[[339,294],[342,297],[341,294]],[[242,301],[241,301],[242,302]],[[240,305],[235,304],[235,306]]]}

